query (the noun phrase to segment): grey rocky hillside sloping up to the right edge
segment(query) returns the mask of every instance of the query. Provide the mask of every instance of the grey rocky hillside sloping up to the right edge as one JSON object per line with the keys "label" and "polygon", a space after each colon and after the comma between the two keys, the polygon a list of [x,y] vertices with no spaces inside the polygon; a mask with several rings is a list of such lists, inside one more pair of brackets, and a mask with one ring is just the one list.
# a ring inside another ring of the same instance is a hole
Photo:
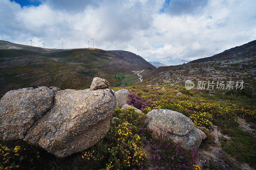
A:
{"label": "grey rocky hillside sloping up to the right edge", "polygon": [[144,83],[185,83],[197,81],[236,81],[256,85],[256,40],[230,48],[211,57],[201,58],[186,64],[159,67],[142,72]]}

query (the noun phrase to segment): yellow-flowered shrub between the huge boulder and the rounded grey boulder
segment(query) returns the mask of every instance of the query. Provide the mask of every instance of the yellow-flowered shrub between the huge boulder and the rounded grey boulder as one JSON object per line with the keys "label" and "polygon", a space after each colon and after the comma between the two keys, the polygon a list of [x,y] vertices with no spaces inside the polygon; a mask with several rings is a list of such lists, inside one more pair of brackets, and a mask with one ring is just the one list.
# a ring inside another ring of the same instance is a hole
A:
{"label": "yellow-flowered shrub between the huge boulder and the rounded grey boulder", "polygon": [[106,136],[107,144],[101,141],[83,153],[86,168],[93,169],[140,169],[147,164],[147,154],[142,150],[145,137],[139,134],[139,127],[145,127],[146,118],[133,108],[116,108],[114,116],[119,117],[110,125]]}

